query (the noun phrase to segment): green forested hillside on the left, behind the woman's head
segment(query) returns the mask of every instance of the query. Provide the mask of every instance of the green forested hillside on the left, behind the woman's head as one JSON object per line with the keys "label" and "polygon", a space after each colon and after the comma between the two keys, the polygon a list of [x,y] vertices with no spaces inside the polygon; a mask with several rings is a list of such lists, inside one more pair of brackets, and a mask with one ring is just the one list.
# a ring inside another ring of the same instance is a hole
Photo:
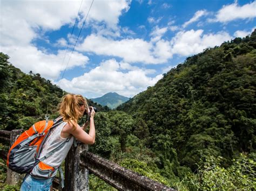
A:
{"label": "green forested hillside on the left, behind the woman's head", "polygon": [[[25,74],[8,62],[9,56],[0,53],[0,129],[27,128],[42,120],[46,112],[55,118],[57,105],[65,91],[40,74]],[[107,111],[89,100],[98,111]]]}

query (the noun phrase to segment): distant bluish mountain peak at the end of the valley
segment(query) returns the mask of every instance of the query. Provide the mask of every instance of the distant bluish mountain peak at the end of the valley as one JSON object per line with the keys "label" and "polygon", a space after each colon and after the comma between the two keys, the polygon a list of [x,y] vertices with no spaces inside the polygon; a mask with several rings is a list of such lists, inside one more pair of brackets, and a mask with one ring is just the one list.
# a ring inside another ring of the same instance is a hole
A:
{"label": "distant bluish mountain peak at the end of the valley", "polygon": [[107,105],[107,107],[114,109],[118,105],[128,101],[129,97],[125,97],[113,92],[113,93],[107,93],[102,97],[91,98],[90,100],[92,100],[93,102],[99,103],[100,105],[103,105],[103,106]]}

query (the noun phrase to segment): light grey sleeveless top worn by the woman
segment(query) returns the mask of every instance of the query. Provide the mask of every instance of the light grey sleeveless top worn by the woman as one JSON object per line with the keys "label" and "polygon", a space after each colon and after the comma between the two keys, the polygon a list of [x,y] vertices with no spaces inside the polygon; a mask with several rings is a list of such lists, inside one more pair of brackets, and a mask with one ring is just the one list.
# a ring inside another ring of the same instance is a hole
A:
{"label": "light grey sleeveless top worn by the woman", "polygon": [[66,155],[68,154],[73,143],[73,136],[70,136],[68,138],[68,142],[66,141],[66,138],[62,138],[60,136],[60,133],[62,132],[66,124],[67,122],[63,122],[50,131],[49,136],[45,140],[45,143],[42,147],[42,151],[39,155],[39,158],[43,157],[46,153],[51,152],[60,144],[66,142],[59,149],[57,149],[56,152],[50,155],[50,157],[43,160],[45,164],[48,164],[54,168],[58,168],[62,164],[62,161],[66,158]]}

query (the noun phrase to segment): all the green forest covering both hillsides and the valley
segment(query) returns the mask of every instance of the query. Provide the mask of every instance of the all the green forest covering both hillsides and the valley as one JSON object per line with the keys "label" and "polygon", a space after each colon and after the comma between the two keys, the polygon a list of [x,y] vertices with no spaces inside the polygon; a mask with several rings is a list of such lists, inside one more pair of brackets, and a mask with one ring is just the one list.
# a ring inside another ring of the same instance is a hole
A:
{"label": "all the green forest covering both hillsides and the valley", "polygon": [[[256,30],[188,57],[116,110],[89,100],[99,111],[89,150],[178,190],[255,190],[255,48]],[[8,59],[0,53],[0,129],[57,117],[66,92]]]}

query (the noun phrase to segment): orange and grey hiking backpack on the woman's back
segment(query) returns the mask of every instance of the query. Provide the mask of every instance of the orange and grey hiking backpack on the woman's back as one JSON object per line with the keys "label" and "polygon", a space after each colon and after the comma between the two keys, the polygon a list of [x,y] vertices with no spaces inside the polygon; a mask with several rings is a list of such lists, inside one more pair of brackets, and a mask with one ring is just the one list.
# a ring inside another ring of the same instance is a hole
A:
{"label": "orange and grey hiking backpack on the woman's back", "polygon": [[62,118],[57,119],[48,121],[46,118],[45,121],[39,121],[18,137],[7,157],[7,166],[12,171],[20,174],[30,173],[33,167],[40,162],[38,157],[50,130],[63,122]]}

